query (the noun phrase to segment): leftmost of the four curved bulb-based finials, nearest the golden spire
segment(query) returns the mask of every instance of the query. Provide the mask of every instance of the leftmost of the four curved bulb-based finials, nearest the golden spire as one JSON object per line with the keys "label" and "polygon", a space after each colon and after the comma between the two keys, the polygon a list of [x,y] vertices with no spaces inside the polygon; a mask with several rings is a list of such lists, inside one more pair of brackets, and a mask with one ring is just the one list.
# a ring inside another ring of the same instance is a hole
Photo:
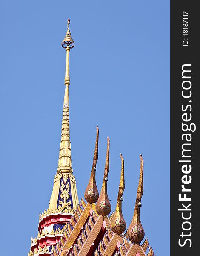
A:
{"label": "leftmost of the four curved bulb-based finials, nearest the golden spire", "polygon": [[97,136],[96,136],[91,175],[90,175],[88,186],[86,187],[86,191],[85,191],[85,199],[90,204],[96,203],[96,201],[99,198],[99,192],[98,192],[96,180],[95,180],[96,165],[98,160],[98,143],[99,143],[99,128],[97,126]]}

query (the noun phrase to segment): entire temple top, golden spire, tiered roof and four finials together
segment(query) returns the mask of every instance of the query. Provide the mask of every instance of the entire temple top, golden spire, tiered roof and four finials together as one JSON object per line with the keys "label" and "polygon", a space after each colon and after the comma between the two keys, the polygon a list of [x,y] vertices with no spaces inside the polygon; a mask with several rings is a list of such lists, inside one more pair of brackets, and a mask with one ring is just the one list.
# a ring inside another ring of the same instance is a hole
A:
{"label": "entire temple top, golden spire, tiered roof and four finials together", "polygon": [[[144,161],[140,155],[140,177],[133,218],[126,230],[122,202],[125,189],[124,158],[120,154],[120,182],[115,211],[107,192],[110,139],[107,137],[106,161],[100,194],[96,185],[99,128],[97,127],[91,175],[83,198],[78,203],[76,180],[73,175],[69,134],[69,52],[74,41],[69,29],[62,41],[66,49],[65,95],[57,173],[49,208],[39,216],[37,239],[31,239],[28,256],[154,256],[140,220],[143,195]],[[143,243],[141,244],[141,242]]]}

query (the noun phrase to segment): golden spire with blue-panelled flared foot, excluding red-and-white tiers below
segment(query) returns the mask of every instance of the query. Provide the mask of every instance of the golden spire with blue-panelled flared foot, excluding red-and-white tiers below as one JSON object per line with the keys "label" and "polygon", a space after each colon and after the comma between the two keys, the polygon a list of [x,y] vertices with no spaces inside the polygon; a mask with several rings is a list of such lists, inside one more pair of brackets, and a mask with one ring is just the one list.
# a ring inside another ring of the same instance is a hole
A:
{"label": "golden spire with blue-panelled flared foot, excluding red-and-white tiers below", "polygon": [[70,20],[67,22],[67,33],[61,45],[66,49],[66,68],[65,68],[65,95],[63,102],[63,120],[61,130],[61,141],[57,175],[54,179],[54,187],[49,202],[49,208],[53,211],[73,213],[78,205],[76,181],[72,169],[71,143],[69,136],[69,52],[74,47],[69,29]]}

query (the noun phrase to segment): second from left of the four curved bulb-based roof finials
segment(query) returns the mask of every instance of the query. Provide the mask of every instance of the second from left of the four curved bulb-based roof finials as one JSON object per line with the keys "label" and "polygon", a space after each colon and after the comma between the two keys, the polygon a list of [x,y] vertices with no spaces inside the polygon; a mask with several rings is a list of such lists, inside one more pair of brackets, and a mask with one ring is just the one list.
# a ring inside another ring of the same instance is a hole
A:
{"label": "second from left of the four curved bulb-based roof finials", "polygon": [[103,184],[100,192],[99,199],[96,204],[96,211],[99,215],[106,216],[111,212],[111,205],[107,194],[107,182],[109,173],[109,154],[110,154],[110,140],[107,137],[107,152],[106,152],[106,164],[104,169]]}

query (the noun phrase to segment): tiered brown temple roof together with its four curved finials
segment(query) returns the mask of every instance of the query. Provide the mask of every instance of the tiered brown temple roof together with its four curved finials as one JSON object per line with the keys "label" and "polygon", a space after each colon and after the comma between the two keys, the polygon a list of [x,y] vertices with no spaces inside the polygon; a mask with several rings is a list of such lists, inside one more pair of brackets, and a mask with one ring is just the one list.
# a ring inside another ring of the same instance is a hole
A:
{"label": "tiered brown temple roof together with its four curved finials", "polygon": [[[98,138],[97,129],[97,138]],[[122,195],[125,188],[124,179],[124,159],[121,157],[121,175],[119,191],[117,196],[117,206],[115,212],[110,216],[111,207],[107,195],[107,183],[109,172],[109,138],[106,152],[106,164],[103,176],[103,185],[100,196],[91,203],[88,196],[92,187],[87,186],[85,198],[87,203],[81,199],[71,221],[66,224],[66,229],[56,248],[53,256],[153,256],[154,252],[149,247],[147,239],[140,244],[144,238],[144,230],[140,221],[141,198],[143,195],[143,157],[140,155],[140,177],[137,188],[136,204],[133,219],[126,230],[126,222],[122,215]],[[98,152],[98,139],[96,140],[95,152]],[[97,159],[97,154],[95,154]],[[96,163],[96,162],[95,162]],[[93,166],[94,168],[94,163]],[[93,169],[92,169],[93,170]],[[91,172],[89,184],[96,184],[95,176]],[[103,202],[103,203],[102,203]]]}

